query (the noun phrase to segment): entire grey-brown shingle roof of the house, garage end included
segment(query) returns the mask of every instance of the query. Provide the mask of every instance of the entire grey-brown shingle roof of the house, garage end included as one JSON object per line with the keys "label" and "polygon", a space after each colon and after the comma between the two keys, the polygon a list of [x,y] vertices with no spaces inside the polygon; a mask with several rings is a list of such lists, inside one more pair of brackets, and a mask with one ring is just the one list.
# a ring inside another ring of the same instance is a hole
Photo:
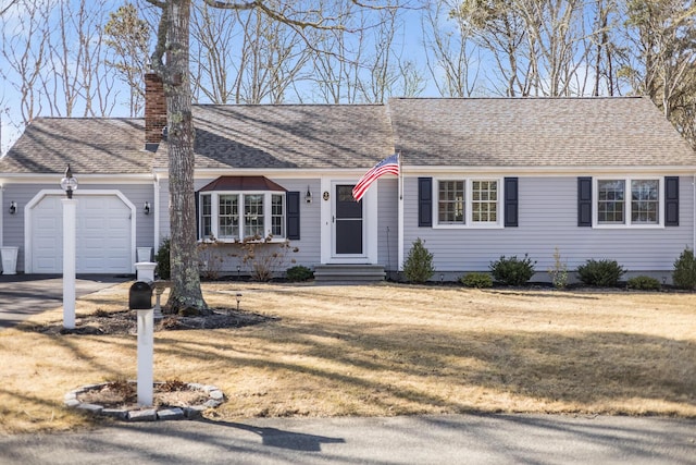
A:
{"label": "entire grey-brown shingle roof of the house, garage end included", "polygon": [[[695,167],[648,98],[395,98],[381,105],[194,106],[197,169]],[[0,173],[151,173],[142,119],[40,118]]]}

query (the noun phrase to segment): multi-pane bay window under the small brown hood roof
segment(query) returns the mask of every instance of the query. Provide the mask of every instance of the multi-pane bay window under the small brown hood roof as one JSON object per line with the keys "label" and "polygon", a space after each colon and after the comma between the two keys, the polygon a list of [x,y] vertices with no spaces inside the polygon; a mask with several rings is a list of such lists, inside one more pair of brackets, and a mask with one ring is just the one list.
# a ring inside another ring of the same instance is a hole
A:
{"label": "multi-pane bay window under the small brown hood roof", "polygon": [[200,236],[234,242],[285,237],[285,193],[201,192]]}

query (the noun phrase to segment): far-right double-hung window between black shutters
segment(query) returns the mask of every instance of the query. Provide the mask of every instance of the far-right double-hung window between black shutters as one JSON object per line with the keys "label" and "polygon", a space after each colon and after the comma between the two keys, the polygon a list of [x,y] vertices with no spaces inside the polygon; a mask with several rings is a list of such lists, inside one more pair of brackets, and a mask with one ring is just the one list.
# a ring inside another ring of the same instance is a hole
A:
{"label": "far-right double-hung window between black shutters", "polygon": [[597,225],[660,225],[660,179],[598,179]]}

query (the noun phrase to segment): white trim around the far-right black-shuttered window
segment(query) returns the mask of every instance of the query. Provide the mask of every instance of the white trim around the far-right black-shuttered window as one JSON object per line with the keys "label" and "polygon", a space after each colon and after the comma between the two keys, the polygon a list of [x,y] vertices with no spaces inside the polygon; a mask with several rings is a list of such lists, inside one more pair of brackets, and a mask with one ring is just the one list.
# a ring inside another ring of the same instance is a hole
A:
{"label": "white trim around the far-right black-shuttered window", "polygon": [[[599,183],[601,181],[623,181],[624,185],[624,221],[623,223],[600,223],[599,222]],[[632,222],[631,213],[633,211],[633,181],[657,181],[658,194],[658,221],[657,223],[639,223]],[[663,229],[664,228],[664,176],[661,175],[607,175],[594,176],[592,180],[592,227],[596,229]]]}

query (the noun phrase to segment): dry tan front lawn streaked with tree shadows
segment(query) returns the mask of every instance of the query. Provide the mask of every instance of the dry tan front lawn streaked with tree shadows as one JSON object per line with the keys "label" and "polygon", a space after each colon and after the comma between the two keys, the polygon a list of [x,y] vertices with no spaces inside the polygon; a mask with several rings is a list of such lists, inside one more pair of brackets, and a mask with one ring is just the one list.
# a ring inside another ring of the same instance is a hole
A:
{"label": "dry tan front lawn streaked with tree shadows", "polygon": [[[123,309],[125,283],[77,304]],[[210,418],[463,412],[696,417],[696,295],[206,284],[213,306],[279,320],[156,333],[156,380],[220,387]],[[60,321],[60,308],[34,322]],[[83,384],[136,376],[134,335],[0,331],[0,432],[61,430]]]}

